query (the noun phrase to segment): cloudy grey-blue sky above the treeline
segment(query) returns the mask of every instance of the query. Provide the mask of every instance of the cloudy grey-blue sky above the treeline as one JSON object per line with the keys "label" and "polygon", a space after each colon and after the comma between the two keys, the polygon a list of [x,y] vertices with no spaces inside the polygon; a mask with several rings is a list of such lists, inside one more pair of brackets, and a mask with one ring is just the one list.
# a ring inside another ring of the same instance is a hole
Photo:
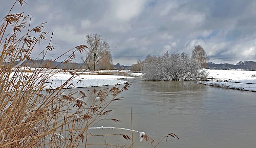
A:
{"label": "cloudy grey-blue sky above the treeline", "polygon": [[[3,18],[14,0],[0,2]],[[254,0],[27,0],[13,13],[31,14],[31,26],[54,32],[49,59],[101,34],[115,48],[113,63],[131,65],[148,54],[191,54],[202,45],[214,63],[256,61]],[[50,38],[50,35],[49,35]],[[36,57],[43,46],[34,51]],[[80,57],[74,60],[81,62]]]}

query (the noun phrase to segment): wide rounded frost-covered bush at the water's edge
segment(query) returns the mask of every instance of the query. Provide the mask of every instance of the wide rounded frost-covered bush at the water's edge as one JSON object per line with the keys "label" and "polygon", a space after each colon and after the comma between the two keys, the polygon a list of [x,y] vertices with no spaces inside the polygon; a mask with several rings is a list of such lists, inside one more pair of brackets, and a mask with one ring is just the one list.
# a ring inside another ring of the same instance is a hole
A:
{"label": "wide rounded frost-covered bush at the water's edge", "polygon": [[143,66],[144,80],[179,81],[206,78],[208,73],[185,53],[152,57]]}

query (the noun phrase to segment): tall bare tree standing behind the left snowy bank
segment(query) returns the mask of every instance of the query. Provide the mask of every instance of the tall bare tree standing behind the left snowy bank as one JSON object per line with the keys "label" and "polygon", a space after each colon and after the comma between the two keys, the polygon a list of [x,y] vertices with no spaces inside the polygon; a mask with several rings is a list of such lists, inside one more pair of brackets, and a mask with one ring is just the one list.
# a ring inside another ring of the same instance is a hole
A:
{"label": "tall bare tree standing behind the left snowy bank", "polygon": [[[87,52],[87,61],[86,64],[90,69],[93,66],[95,71],[96,63],[99,61],[102,53],[110,52],[110,45],[101,38],[101,35],[98,34],[89,34],[86,36],[86,43],[89,48]],[[91,65],[93,64],[93,65]]]}

